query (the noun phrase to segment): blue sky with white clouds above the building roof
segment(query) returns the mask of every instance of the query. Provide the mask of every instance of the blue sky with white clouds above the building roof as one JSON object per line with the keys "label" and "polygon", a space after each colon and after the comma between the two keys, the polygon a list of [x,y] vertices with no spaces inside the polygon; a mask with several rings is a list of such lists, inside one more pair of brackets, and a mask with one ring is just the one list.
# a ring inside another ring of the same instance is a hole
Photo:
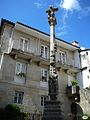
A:
{"label": "blue sky with white clouds above the building roof", "polygon": [[90,0],[0,0],[0,19],[18,21],[49,34],[46,10],[50,5],[59,9],[55,13],[55,36],[90,48]]}

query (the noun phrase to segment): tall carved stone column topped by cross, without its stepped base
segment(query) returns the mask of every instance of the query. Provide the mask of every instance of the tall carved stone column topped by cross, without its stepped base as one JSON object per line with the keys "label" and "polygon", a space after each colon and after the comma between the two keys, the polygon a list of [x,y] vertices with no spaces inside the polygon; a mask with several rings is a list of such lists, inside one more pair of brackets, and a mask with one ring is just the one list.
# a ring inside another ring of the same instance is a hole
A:
{"label": "tall carved stone column topped by cross, without its stepped base", "polygon": [[55,12],[58,11],[58,8],[53,8],[50,6],[48,13],[48,22],[50,25],[50,76],[49,76],[49,96],[51,100],[57,99],[58,94],[58,75],[56,71],[56,42],[55,42],[55,25],[56,17]]}

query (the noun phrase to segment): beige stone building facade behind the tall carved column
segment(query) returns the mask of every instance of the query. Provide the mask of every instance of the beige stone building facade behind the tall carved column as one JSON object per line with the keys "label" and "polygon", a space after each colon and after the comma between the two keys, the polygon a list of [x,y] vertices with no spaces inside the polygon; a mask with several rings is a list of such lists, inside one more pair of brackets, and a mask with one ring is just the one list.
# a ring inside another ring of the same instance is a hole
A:
{"label": "beige stone building facade behind the tall carved column", "polygon": [[[2,19],[0,33],[0,107],[17,104],[25,112],[42,113],[49,99],[49,35],[24,25]],[[79,47],[56,38],[58,100],[65,116],[71,100],[66,87],[71,80],[82,86]]]}

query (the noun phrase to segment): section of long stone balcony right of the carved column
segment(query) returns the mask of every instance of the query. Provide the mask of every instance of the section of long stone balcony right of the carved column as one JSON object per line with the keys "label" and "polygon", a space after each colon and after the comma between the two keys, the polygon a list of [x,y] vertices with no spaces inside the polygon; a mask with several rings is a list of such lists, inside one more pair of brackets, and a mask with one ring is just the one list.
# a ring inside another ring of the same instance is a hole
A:
{"label": "section of long stone balcony right of the carved column", "polygon": [[57,61],[57,69],[62,69],[65,72],[71,72],[71,73],[78,73],[80,72],[80,69],[78,67],[75,67],[74,65],[74,61],[70,62],[70,60],[68,60],[69,62],[65,62],[62,63],[61,61]]}

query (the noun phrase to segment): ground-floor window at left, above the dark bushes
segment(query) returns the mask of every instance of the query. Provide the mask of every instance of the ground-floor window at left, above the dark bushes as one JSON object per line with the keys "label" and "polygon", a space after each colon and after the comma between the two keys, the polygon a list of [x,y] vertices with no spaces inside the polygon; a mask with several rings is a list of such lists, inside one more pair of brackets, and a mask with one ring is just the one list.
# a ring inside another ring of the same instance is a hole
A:
{"label": "ground-floor window at left, above the dark bushes", "polygon": [[22,104],[23,95],[24,95],[24,92],[15,91],[14,103]]}

